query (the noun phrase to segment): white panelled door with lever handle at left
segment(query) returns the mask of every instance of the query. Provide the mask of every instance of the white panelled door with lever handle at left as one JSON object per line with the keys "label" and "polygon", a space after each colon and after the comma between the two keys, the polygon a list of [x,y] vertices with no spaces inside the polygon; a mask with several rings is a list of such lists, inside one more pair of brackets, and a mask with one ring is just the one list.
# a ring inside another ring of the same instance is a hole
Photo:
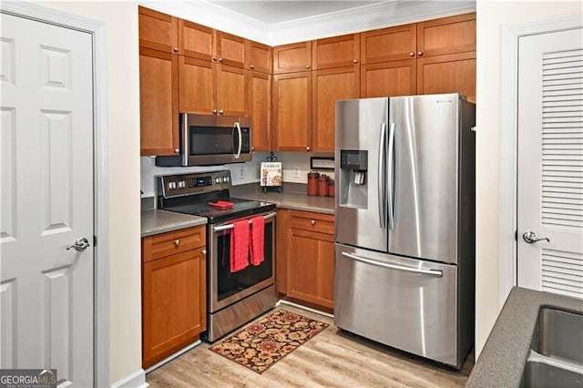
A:
{"label": "white panelled door with lever handle at left", "polygon": [[0,15],[0,368],[91,386],[92,40]]}

